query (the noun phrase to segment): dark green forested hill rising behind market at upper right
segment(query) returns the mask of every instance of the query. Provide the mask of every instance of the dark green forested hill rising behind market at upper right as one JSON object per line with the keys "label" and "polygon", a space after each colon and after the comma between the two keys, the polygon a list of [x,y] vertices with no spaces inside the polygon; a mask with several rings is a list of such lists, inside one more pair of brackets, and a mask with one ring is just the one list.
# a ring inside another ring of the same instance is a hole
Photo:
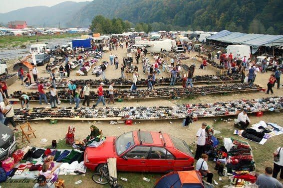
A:
{"label": "dark green forested hill rising behind market at upper right", "polygon": [[98,14],[152,29],[186,29],[283,34],[283,0],[93,0],[68,22],[87,26]]}

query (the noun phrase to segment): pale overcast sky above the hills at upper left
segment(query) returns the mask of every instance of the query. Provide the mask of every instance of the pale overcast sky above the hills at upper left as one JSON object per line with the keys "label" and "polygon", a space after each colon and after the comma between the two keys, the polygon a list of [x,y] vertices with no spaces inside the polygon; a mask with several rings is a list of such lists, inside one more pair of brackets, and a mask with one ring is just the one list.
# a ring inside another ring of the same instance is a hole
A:
{"label": "pale overcast sky above the hills at upper left", "polygon": [[[53,6],[68,0],[0,0],[0,13],[9,12],[28,6]],[[91,1],[91,0],[69,0],[69,1]]]}

